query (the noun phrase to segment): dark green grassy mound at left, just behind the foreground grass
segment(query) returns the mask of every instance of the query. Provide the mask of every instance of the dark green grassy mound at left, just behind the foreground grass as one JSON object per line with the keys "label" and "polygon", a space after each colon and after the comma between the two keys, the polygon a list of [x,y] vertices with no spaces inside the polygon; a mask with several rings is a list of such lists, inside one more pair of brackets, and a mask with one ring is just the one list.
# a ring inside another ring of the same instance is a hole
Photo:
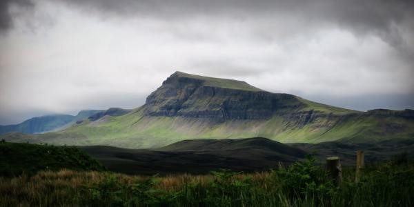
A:
{"label": "dark green grassy mound at left, just behind the foreground grass", "polygon": [[0,176],[34,175],[39,170],[105,170],[75,147],[0,142]]}

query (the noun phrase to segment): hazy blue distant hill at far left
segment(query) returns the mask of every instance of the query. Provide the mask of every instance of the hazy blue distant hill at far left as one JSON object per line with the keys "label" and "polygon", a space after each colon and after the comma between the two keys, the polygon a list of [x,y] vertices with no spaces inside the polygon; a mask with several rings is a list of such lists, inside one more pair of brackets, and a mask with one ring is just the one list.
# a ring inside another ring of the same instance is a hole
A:
{"label": "hazy blue distant hill at far left", "polygon": [[75,121],[86,119],[91,115],[103,110],[81,110],[76,116],[72,115],[47,115],[42,117],[33,117],[21,124],[12,124],[6,126],[0,126],[0,135],[8,132],[22,132],[25,134],[34,134],[41,132],[48,132],[64,128],[69,124],[73,124]]}

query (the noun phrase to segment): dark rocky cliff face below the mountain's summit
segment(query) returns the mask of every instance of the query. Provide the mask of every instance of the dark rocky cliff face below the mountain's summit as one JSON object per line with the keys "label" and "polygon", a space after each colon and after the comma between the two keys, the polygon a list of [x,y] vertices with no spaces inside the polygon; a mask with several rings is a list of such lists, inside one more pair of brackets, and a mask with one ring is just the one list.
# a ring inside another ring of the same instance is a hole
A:
{"label": "dark rocky cliff face below the mountain's summit", "polygon": [[249,90],[250,85],[242,81],[229,88],[217,87],[208,81],[203,77],[175,72],[147,97],[145,114],[224,120],[268,119],[275,112],[295,110],[303,105],[293,95]]}

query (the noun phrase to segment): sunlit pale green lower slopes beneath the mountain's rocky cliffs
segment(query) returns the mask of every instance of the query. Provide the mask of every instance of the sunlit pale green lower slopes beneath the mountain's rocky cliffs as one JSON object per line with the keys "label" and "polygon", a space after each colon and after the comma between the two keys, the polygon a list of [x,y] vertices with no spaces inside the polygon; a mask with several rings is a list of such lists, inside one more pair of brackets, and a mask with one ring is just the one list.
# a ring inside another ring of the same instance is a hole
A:
{"label": "sunlit pale green lower slopes beneath the mountain's rocky cliffs", "polygon": [[103,117],[59,132],[42,135],[14,134],[9,140],[57,145],[110,145],[153,148],[184,139],[268,137],[284,143],[343,140],[371,142],[414,137],[414,121],[406,117],[381,117],[364,113],[340,119],[316,119],[305,125],[275,116],[268,120],[230,120],[148,117],[142,108],[121,117]]}

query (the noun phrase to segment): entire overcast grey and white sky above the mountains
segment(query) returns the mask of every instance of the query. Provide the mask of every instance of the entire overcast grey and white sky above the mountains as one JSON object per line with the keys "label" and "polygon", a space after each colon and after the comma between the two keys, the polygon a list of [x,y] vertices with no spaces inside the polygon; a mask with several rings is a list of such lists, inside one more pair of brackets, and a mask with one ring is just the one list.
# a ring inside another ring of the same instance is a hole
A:
{"label": "entire overcast grey and white sky above the mountains", "polygon": [[176,70],[414,108],[414,1],[2,0],[0,124],[136,108]]}

